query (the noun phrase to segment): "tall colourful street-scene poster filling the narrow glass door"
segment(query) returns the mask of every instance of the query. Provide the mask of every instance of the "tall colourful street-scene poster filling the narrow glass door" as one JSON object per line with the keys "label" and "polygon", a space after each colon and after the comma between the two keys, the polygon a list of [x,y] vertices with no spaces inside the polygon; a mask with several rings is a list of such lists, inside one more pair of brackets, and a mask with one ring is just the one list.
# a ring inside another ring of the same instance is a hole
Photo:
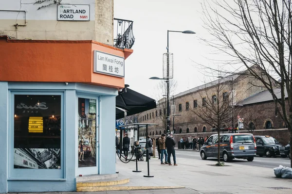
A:
{"label": "tall colourful street-scene poster filling the narrow glass door", "polygon": [[78,98],[78,167],[96,166],[96,99]]}

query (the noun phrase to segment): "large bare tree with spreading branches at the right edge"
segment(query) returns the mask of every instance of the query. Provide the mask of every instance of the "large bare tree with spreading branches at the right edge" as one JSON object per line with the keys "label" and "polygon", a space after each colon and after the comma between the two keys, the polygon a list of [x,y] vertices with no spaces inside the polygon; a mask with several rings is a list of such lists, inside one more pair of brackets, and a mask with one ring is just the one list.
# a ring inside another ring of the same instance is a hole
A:
{"label": "large bare tree with spreading branches at the right edge", "polygon": [[215,37],[208,44],[231,56],[229,64],[243,64],[250,76],[261,81],[287,123],[292,142],[291,0],[218,0],[202,6],[205,26]]}

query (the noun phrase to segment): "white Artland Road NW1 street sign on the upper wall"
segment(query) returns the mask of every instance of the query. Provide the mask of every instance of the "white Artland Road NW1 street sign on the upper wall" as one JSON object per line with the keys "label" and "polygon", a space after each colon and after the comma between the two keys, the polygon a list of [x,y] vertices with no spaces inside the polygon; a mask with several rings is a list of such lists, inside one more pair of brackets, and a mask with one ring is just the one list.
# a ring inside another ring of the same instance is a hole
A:
{"label": "white Artland Road NW1 street sign on the upper wall", "polygon": [[58,21],[90,21],[90,5],[57,5]]}

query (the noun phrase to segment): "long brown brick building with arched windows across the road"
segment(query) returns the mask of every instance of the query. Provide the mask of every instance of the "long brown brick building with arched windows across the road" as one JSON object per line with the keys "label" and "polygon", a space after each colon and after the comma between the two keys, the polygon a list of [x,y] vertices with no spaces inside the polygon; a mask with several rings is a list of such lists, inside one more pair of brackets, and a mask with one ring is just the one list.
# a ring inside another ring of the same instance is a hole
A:
{"label": "long brown brick building with arched windows across the road", "polygon": [[[221,85],[220,91],[216,91],[219,84]],[[232,100],[234,102],[234,127],[237,127],[237,115],[240,115],[241,118],[244,118],[244,129],[240,131],[252,132],[256,135],[271,135],[282,144],[288,143],[288,129],[285,128],[280,116],[275,113],[271,94],[266,91],[260,81],[246,75],[245,72],[206,83],[170,98],[170,104],[174,104],[170,105],[171,114],[173,114],[173,106],[176,107],[177,116],[170,115],[170,130],[175,134],[176,142],[182,136],[206,137],[213,134],[214,131],[211,129],[215,127],[206,124],[194,111],[208,98],[214,100],[214,98],[227,97],[231,100],[232,95],[234,95],[234,100]],[[148,135],[159,136],[159,134],[166,132],[165,104],[166,99],[163,98],[158,101],[156,109],[136,115],[141,123],[159,124],[159,126],[150,127]],[[232,127],[231,113],[229,122],[226,122],[222,127]],[[145,136],[146,130],[140,129],[139,135]]]}

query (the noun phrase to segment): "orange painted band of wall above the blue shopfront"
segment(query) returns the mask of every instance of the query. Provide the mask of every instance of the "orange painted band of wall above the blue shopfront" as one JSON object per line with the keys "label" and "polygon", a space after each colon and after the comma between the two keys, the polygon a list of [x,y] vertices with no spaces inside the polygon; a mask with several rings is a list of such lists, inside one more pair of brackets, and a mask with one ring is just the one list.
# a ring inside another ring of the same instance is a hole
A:
{"label": "orange painted band of wall above the blue shopfront", "polygon": [[123,50],[93,41],[0,37],[0,81],[83,82],[123,88],[124,78],[93,73],[93,50],[124,57]]}

